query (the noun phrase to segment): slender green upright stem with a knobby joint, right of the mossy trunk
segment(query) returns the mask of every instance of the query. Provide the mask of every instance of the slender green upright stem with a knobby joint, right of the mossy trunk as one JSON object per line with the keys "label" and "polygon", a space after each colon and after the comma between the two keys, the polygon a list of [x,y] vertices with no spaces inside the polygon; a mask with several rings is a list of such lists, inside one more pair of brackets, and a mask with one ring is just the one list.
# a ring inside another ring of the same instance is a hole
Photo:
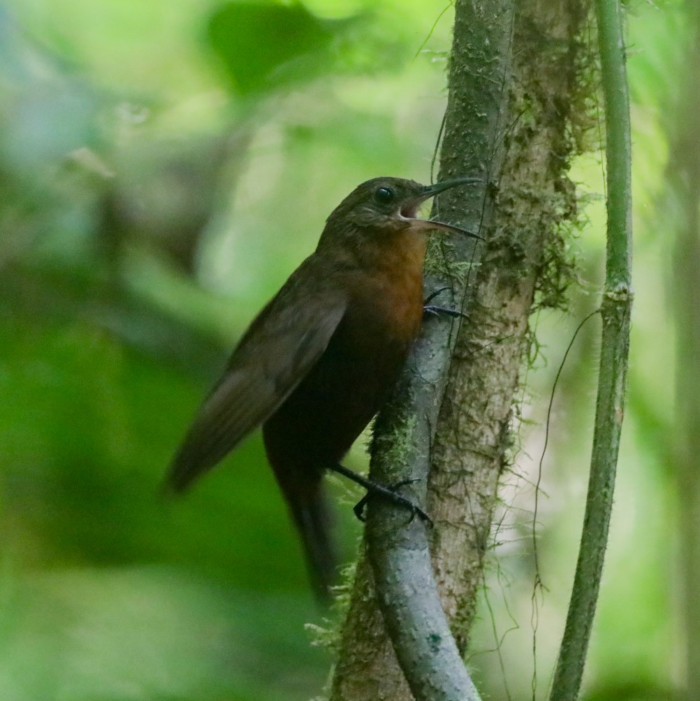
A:
{"label": "slender green upright stem with a knobby joint, right of the mossy trunk", "polygon": [[596,0],[605,98],[608,246],[601,303],[603,332],[591,474],[568,617],[552,684],[552,701],[579,695],[603,571],[619,451],[629,351],[631,294],[631,141],[622,9]]}

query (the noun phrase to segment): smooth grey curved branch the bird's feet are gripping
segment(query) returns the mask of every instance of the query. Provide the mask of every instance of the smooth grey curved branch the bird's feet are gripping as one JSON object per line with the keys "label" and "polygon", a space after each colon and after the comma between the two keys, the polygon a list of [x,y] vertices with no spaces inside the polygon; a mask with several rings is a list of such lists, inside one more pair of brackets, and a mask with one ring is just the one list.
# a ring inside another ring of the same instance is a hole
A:
{"label": "smooth grey curved branch the bird's feet are gripping", "polygon": [[[498,136],[507,111],[504,86],[510,76],[513,21],[511,0],[494,2],[488,11],[483,7],[475,10],[474,4],[466,2],[458,4],[455,10],[451,93],[446,114],[449,147],[444,147],[440,179],[451,177],[451,173],[487,178],[500,175],[502,159],[497,153],[502,151],[502,144]],[[476,40],[472,46],[479,46],[478,61],[469,56],[465,46],[465,40],[470,38]],[[469,68],[474,65],[483,70],[476,80],[469,75]],[[486,174],[481,168],[474,172],[474,163],[470,162],[476,155],[473,151],[465,149],[463,142],[454,143],[455,132],[465,118],[476,118],[476,114],[467,113],[467,116],[463,111],[465,101],[474,100],[476,81],[479,83],[476,95],[482,99],[479,109],[482,115],[488,114],[490,121],[481,129],[474,128],[474,124],[469,126],[481,146],[476,151],[481,156],[476,163],[489,164],[491,172]],[[451,138],[453,142],[449,143]],[[478,229],[483,224],[485,210],[493,209],[493,192],[487,196],[484,190],[484,187],[474,188],[467,194],[467,202],[460,203],[464,209],[457,219],[467,224],[469,230]],[[455,197],[446,193],[435,204],[436,210],[443,204],[452,205],[454,211]],[[441,255],[442,271],[427,279],[428,290],[432,292],[444,286],[447,272],[452,278],[453,300],[464,300],[466,280],[459,268],[468,267],[475,260],[474,243],[453,238],[440,253],[433,249],[432,254]],[[429,447],[455,340],[451,324],[446,320],[430,320],[414,349],[404,382],[397,388],[392,402],[380,412],[375,426],[370,465],[373,479],[385,483],[410,479],[422,503],[425,503],[430,471]],[[368,512],[366,540],[378,607],[413,697],[416,701],[479,700],[441,604],[425,524],[419,519],[406,524],[405,512],[376,502]]]}

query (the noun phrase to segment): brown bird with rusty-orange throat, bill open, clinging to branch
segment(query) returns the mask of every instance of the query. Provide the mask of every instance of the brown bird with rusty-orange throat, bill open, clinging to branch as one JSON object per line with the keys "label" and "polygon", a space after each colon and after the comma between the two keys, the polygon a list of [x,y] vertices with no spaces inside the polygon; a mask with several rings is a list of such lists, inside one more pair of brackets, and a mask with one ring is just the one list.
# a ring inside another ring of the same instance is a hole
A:
{"label": "brown bird with rusty-orange throat, bill open, clinging to branch", "polygon": [[168,484],[181,491],[262,424],[321,597],[334,575],[324,470],[425,517],[395,487],[370,482],[340,461],[387,400],[418,336],[427,232],[476,236],[416,218],[418,206],[474,182],[481,181],[424,186],[379,177],[357,186],[331,212],[315,252],[245,332],[172,463]]}

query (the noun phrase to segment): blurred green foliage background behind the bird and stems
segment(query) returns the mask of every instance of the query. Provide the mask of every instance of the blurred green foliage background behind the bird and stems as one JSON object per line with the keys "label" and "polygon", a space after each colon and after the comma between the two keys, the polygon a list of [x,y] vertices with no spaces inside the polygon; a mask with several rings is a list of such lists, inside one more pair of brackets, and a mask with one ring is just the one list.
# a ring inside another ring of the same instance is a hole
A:
{"label": "blurred green foliage background behind the bird and stems", "polygon": [[[673,231],[655,203],[685,15],[629,10],[636,302],[612,542],[590,699],[682,678],[673,448]],[[427,182],[452,8],[423,0],[0,2],[0,700],[305,699],[331,656],[259,436],[180,501],[160,482],[235,339],[376,175]],[[592,141],[596,135],[591,136]],[[572,164],[589,224],[570,315],[534,320],[470,665],[486,695],[538,693],[561,638],[586,489],[596,338],[555,397],[537,529],[532,482],[554,374],[596,304],[600,156]],[[672,291],[672,283],[669,283]],[[362,469],[359,443],[348,458]],[[337,536],[352,559],[357,494]]]}

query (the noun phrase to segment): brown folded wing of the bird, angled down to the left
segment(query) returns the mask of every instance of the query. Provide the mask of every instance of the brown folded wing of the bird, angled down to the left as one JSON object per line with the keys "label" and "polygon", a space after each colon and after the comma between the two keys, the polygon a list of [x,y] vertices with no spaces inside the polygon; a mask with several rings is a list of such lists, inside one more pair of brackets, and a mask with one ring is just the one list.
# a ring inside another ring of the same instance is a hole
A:
{"label": "brown folded wing of the bird, angled down to the left", "polygon": [[339,287],[302,265],[241,339],[167,478],[185,489],[274,413],[325,351],[345,313]]}

